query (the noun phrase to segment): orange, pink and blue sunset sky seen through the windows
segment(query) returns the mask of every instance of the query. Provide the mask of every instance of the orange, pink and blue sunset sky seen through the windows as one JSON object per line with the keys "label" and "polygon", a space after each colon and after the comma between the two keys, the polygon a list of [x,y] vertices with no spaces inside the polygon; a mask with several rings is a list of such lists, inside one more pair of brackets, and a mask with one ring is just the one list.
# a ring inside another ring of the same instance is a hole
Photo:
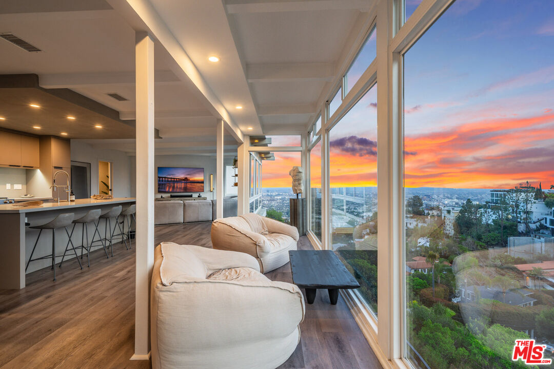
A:
{"label": "orange, pink and blue sunset sky seen through the windows", "polygon": [[[456,1],[405,56],[405,185],[554,184],[553,45],[554,1]],[[332,187],[376,185],[376,93],[331,130]],[[290,186],[300,155],[275,157],[264,187]]]}

